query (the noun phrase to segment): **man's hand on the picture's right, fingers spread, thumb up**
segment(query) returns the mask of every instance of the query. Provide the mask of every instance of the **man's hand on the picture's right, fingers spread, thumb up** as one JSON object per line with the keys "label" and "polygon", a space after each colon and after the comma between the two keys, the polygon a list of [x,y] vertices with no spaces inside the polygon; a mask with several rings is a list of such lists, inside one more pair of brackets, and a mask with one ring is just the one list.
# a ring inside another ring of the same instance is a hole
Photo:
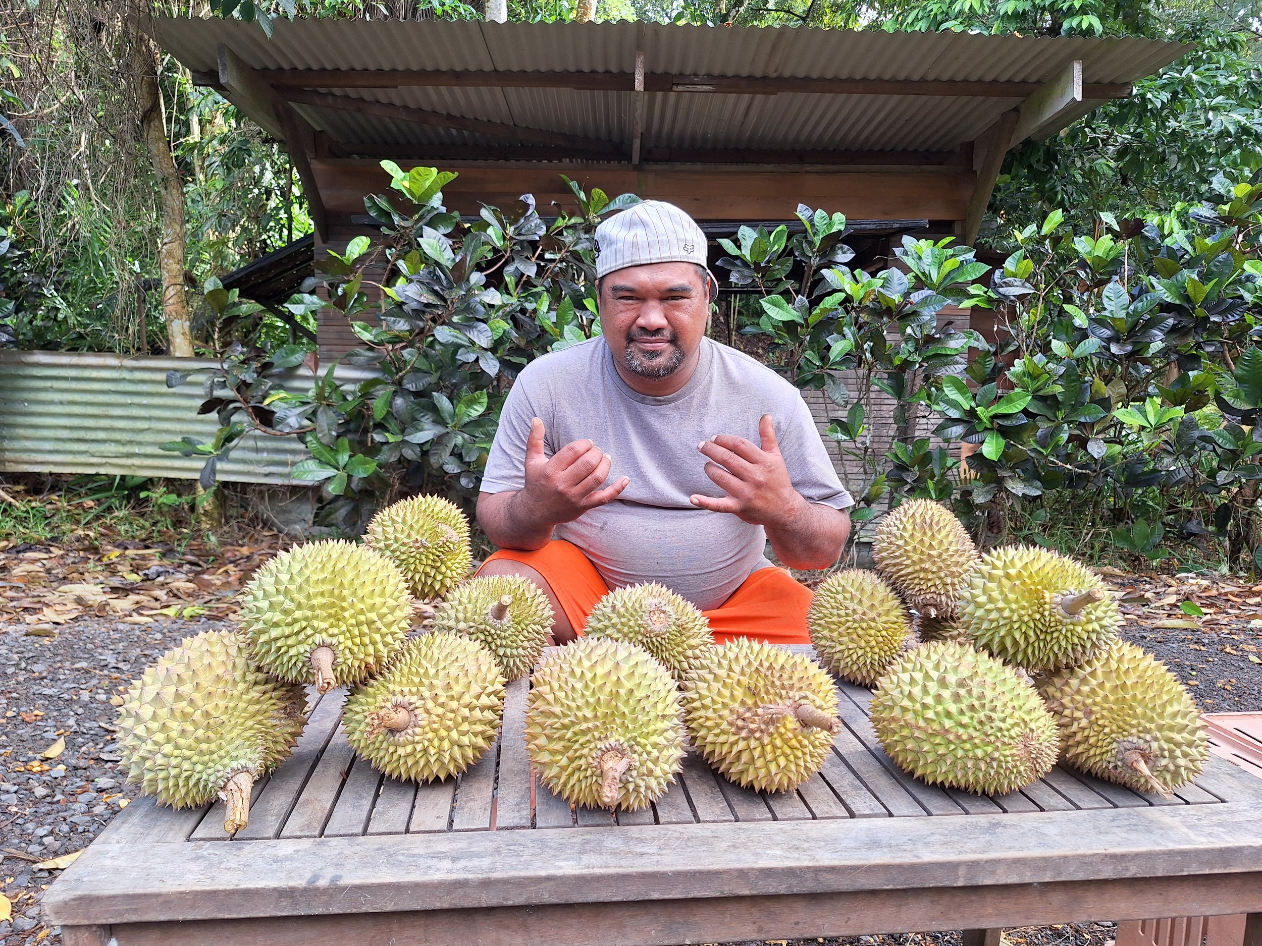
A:
{"label": "man's hand on the picture's right, fingers spread, thumb up", "polygon": [[703,440],[699,449],[709,460],[705,476],[727,496],[693,494],[693,506],[712,512],[731,512],[756,526],[771,526],[794,518],[805,499],[793,488],[789,468],[776,443],[776,429],[770,414],[758,420],[761,447],[743,436],[719,434]]}

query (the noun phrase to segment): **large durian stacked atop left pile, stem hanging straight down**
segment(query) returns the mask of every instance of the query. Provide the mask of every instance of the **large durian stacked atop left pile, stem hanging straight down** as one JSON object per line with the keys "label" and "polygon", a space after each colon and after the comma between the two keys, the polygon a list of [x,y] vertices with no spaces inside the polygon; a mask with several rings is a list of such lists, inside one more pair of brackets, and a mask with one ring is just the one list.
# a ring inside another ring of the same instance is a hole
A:
{"label": "large durian stacked atop left pile, stem hanging straight down", "polygon": [[241,607],[241,629],[262,669],[321,692],[385,666],[410,618],[394,563],[345,541],[281,552],[255,573]]}

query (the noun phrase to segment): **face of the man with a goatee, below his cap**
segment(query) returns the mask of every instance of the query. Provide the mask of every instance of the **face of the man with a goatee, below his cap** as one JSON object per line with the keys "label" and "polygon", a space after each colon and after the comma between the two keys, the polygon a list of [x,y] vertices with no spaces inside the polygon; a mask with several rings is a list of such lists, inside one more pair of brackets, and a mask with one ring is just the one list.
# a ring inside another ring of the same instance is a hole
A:
{"label": "face of the man with a goatee, below his cap", "polygon": [[628,266],[607,275],[601,330],[620,366],[651,380],[678,371],[705,336],[707,289],[690,262]]}

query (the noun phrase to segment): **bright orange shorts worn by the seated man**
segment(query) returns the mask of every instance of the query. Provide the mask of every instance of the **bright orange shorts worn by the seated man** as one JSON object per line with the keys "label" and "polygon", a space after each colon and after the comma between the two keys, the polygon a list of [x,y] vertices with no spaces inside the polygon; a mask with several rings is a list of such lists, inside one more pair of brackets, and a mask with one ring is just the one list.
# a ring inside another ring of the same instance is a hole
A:
{"label": "bright orange shorts worn by the seated man", "polygon": [[[496,559],[529,565],[553,589],[565,617],[578,633],[583,633],[587,616],[596,603],[610,593],[592,560],[570,542],[554,539],[536,551],[501,549]],[[769,643],[810,643],[806,631],[806,609],[814,595],[779,568],[758,569],[732,592],[732,597],[712,610],[709,618],[716,643],[736,637],[752,637]]]}

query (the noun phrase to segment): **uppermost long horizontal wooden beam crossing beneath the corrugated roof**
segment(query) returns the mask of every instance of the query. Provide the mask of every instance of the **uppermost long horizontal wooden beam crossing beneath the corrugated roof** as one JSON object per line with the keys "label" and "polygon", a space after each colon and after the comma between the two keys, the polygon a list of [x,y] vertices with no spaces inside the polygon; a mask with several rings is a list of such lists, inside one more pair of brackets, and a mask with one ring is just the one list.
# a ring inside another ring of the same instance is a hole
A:
{"label": "uppermost long horizontal wooden beam crossing beneath the corrugated roof", "polygon": [[[275,88],[573,88],[593,92],[634,92],[634,72],[452,72],[427,69],[256,69]],[[216,85],[215,76],[194,73],[196,82]],[[791,76],[644,76],[645,92],[709,92],[723,95],[940,96],[1027,98],[1042,82],[965,82],[919,79],[801,78]],[[1127,98],[1131,86],[1121,82],[1087,83],[1083,97]]]}

